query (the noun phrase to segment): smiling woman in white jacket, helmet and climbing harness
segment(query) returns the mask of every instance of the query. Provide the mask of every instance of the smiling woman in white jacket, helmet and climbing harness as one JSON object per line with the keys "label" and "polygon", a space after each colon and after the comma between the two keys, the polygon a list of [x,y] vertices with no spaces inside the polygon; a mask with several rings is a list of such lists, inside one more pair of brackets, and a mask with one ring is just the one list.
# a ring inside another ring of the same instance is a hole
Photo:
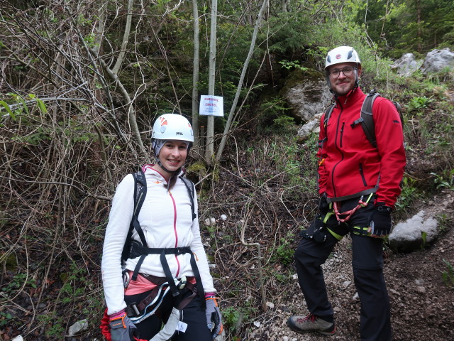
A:
{"label": "smiling woman in white jacket, helmet and climbing harness", "polygon": [[101,264],[113,341],[133,336],[168,340],[172,335],[178,341],[209,341],[222,331],[199,222],[192,212],[197,212],[196,196],[190,194],[194,185],[190,183],[189,191],[188,180],[182,179],[193,142],[191,124],[181,115],[164,114],[155,121],[157,163],[142,168],[146,195],[124,271],[121,254],[133,218],[133,175],[126,175],[116,189]]}

